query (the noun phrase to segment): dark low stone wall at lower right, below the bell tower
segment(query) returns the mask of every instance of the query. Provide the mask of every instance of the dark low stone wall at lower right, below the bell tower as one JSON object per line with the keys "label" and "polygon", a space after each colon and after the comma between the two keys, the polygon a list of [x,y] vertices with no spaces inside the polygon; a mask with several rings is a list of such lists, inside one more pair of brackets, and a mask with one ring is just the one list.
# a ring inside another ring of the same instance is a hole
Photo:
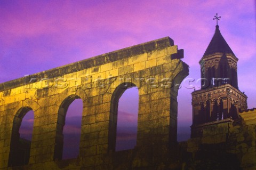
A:
{"label": "dark low stone wall at lower right, below the bell tower", "polygon": [[256,110],[193,127],[197,134],[187,141],[185,169],[256,169]]}

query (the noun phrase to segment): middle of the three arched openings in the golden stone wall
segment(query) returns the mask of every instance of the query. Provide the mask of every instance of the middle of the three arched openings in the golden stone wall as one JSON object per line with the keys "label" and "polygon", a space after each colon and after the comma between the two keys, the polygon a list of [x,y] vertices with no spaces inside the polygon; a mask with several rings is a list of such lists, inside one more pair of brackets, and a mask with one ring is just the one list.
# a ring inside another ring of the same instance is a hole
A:
{"label": "middle of the three arched openings in the golden stone wall", "polygon": [[83,101],[77,95],[66,98],[58,112],[54,159],[71,159],[79,155]]}

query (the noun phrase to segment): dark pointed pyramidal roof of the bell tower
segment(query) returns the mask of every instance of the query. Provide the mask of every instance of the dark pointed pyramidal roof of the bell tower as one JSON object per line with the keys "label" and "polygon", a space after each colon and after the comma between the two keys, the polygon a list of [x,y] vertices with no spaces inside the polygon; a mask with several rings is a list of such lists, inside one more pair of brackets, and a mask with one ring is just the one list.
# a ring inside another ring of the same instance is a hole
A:
{"label": "dark pointed pyramidal roof of the bell tower", "polygon": [[213,53],[229,53],[229,54],[235,55],[231,50],[231,48],[229,47],[228,43],[225,41],[225,39],[221,35],[218,25],[216,26],[215,33],[212,37],[212,40],[208,45],[203,56],[210,55]]}

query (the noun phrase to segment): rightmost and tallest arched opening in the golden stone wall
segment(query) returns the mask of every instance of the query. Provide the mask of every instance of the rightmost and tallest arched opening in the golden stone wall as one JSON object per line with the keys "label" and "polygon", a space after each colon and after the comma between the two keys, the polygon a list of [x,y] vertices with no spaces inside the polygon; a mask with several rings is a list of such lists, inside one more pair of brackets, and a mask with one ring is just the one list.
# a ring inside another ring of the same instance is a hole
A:
{"label": "rightmost and tallest arched opening in the golden stone wall", "polygon": [[109,149],[133,149],[137,142],[138,88],[132,83],[121,84],[113,93],[111,102]]}

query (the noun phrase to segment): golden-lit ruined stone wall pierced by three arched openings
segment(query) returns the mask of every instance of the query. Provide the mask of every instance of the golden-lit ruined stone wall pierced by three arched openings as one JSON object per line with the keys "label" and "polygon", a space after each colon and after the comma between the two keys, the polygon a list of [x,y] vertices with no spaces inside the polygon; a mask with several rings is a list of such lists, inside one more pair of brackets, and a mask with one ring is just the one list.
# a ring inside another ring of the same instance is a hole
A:
{"label": "golden-lit ruined stone wall pierced by three arched openings", "polygon": [[[0,169],[179,168],[175,84],[188,75],[182,57],[165,37],[0,84]],[[139,91],[137,145],[116,152],[118,99],[132,86]],[[62,160],[62,130],[75,99],[83,100],[79,156]],[[30,154],[19,166],[19,127],[29,110]]]}

